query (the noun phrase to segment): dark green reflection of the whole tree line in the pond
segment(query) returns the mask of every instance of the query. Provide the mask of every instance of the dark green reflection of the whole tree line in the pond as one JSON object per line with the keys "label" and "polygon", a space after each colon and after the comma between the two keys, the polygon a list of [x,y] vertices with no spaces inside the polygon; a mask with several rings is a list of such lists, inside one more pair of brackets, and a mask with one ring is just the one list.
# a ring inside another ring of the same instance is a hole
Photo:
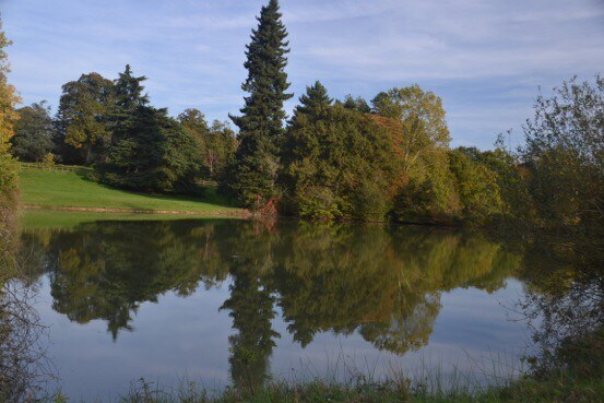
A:
{"label": "dark green reflection of the whole tree line in the pond", "polygon": [[22,238],[28,271],[49,275],[54,309],[79,323],[102,319],[115,340],[142,303],[230,278],[222,309],[238,384],[268,374],[277,307],[303,346],[318,332],[358,331],[404,354],[428,342],[442,292],[494,292],[520,261],[479,235],[423,227],[96,222]]}

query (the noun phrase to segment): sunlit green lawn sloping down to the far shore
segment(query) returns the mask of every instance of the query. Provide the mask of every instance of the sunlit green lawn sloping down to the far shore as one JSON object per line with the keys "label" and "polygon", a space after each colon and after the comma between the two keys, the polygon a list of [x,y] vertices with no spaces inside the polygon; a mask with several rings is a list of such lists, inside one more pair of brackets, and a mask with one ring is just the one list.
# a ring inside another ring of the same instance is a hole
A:
{"label": "sunlit green lawn sloping down to the far shore", "polygon": [[234,212],[214,188],[203,197],[142,194],[118,190],[86,179],[88,171],[23,169],[20,174],[23,205],[48,208],[110,208],[198,213]]}

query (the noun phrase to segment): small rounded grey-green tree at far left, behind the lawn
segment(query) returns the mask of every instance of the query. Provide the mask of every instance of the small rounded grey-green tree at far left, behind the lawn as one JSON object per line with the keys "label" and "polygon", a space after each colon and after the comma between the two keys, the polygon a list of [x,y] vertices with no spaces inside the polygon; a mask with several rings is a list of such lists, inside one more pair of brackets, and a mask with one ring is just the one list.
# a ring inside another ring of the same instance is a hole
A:
{"label": "small rounded grey-green tree at far left, behind the lawn", "polygon": [[21,161],[40,162],[54,149],[52,118],[50,107],[45,104],[43,100],[16,110],[19,120],[11,143],[13,155]]}

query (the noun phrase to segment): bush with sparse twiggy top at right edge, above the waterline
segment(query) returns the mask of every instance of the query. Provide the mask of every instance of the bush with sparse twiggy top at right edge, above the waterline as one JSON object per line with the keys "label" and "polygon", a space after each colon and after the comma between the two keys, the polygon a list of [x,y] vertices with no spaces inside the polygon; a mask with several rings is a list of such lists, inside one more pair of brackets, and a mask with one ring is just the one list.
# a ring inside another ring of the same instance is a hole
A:
{"label": "bush with sparse twiggy top at right edge, above the waterline", "polygon": [[604,227],[604,78],[565,82],[534,109],[521,156],[541,223]]}

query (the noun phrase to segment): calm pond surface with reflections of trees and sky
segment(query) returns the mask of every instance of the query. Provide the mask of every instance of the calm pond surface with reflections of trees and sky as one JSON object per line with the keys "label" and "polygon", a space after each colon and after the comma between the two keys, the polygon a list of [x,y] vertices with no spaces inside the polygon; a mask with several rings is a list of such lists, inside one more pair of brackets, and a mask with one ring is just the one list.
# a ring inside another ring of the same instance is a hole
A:
{"label": "calm pond surface with reflections of trees and sky", "polygon": [[[38,213],[39,214],[39,213]],[[63,392],[144,377],[253,381],[507,370],[520,258],[479,233],[238,221],[27,224],[21,239]]]}

